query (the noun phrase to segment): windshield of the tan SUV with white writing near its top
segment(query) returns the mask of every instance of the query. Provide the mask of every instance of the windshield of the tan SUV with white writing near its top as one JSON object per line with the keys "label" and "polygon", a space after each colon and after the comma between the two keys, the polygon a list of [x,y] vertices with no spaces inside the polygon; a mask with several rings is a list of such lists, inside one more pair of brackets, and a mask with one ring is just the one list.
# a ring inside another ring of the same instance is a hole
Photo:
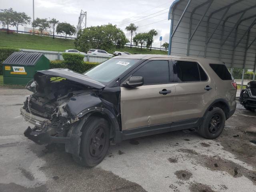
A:
{"label": "windshield of the tan SUV with white writing near its top", "polygon": [[84,74],[100,82],[110,82],[138,61],[138,59],[109,59]]}

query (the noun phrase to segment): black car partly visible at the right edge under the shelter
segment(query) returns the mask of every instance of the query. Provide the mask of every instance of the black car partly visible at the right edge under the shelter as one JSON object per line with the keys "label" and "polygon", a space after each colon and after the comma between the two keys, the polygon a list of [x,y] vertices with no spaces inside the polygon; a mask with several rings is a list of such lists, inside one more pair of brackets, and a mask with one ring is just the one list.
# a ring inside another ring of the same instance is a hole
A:
{"label": "black car partly visible at the right edge under the shelter", "polygon": [[240,93],[239,102],[247,110],[256,109],[256,81],[251,81]]}

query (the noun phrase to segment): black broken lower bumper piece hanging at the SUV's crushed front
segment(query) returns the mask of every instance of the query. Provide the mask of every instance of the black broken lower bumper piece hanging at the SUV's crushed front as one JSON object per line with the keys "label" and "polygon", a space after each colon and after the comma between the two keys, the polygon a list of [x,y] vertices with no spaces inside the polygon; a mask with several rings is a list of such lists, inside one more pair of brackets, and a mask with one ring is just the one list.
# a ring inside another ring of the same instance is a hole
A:
{"label": "black broken lower bumper piece hanging at the SUV's crushed front", "polygon": [[70,138],[68,137],[50,136],[49,131],[38,131],[36,130],[36,127],[34,129],[31,129],[30,126],[28,126],[28,128],[24,132],[24,136],[39,145],[50,143],[70,143]]}

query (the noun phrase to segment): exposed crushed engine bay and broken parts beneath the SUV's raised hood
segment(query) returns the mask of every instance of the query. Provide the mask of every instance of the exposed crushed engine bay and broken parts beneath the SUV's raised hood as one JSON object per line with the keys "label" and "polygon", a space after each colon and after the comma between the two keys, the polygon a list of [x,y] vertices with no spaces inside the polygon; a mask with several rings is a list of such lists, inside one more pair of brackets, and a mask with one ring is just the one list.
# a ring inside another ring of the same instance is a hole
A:
{"label": "exposed crushed engine bay and broken parts beneath the SUV's raised hood", "polygon": [[64,133],[70,124],[78,120],[67,108],[71,97],[88,94],[88,90],[76,90],[65,85],[45,87],[26,98],[21,113],[24,120],[35,125],[37,131],[49,131],[56,136]]}

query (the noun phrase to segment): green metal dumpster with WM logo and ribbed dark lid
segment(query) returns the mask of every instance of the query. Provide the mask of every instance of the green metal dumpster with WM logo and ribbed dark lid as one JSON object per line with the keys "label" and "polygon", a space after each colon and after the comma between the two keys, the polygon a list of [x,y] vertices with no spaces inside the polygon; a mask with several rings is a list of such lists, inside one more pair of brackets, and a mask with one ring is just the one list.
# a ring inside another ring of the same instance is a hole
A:
{"label": "green metal dumpster with WM logo and ribbed dark lid", "polygon": [[14,52],[3,63],[4,84],[27,84],[36,71],[50,68],[42,53]]}

